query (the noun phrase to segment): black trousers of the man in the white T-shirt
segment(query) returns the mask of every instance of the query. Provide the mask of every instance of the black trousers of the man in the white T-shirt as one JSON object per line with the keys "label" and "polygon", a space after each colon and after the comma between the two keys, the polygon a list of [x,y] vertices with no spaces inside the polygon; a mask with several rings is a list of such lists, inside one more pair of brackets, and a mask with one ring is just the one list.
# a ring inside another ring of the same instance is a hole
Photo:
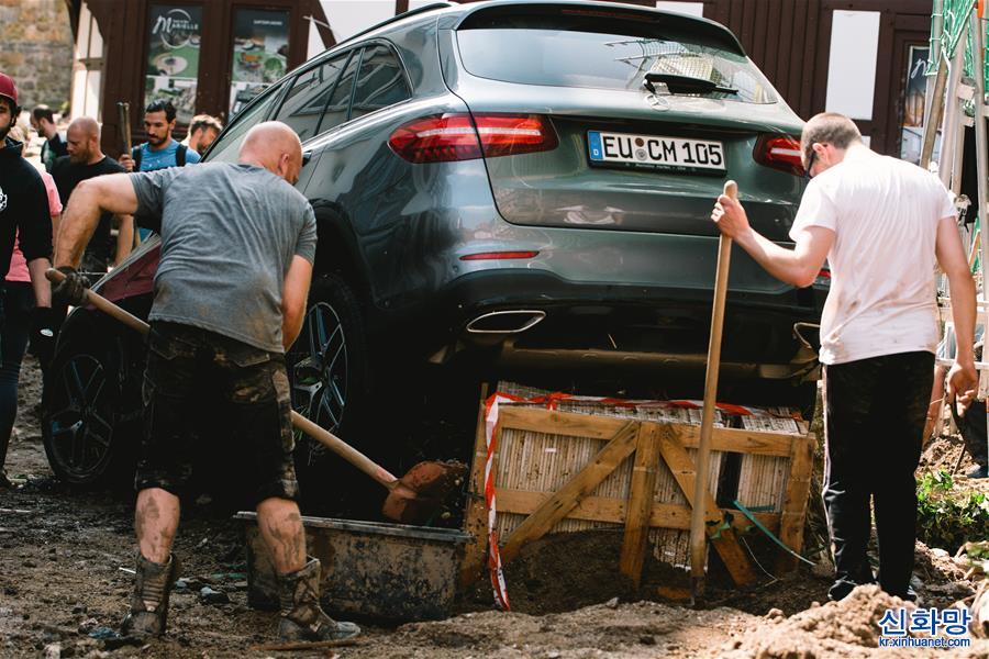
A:
{"label": "black trousers of the man in the white T-shirt", "polygon": [[913,571],[916,482],[934,355],[903,353],[824,367],[824,507],[841,600],[875,581],[866,549],[871,502],[879,584],[904,596]]}

